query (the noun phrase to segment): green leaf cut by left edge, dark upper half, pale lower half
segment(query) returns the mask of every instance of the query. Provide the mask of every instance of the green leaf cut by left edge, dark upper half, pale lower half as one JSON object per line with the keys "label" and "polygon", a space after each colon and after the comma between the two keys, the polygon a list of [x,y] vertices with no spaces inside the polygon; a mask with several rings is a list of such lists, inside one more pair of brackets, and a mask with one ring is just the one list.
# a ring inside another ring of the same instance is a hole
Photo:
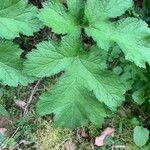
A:
{"label": "green leaf cut by left edge, dark upper half, pale lower half", "polygon": [[0,42],[0,81],[9,86],[27,85],[34,78],[22,73],[21,50],[11,42]]}

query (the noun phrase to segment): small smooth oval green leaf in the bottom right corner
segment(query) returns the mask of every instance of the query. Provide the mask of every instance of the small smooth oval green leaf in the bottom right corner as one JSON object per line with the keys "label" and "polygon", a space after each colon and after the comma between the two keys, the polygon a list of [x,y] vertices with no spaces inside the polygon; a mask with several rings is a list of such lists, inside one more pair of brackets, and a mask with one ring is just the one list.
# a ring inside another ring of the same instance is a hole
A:
{"label": "small smooth oval green leaf in the bottom right corner", "polygon": [[146,128],[136,126],[133,133],[134,142],[141,147],[146,144],[149,139],[149,131]]}

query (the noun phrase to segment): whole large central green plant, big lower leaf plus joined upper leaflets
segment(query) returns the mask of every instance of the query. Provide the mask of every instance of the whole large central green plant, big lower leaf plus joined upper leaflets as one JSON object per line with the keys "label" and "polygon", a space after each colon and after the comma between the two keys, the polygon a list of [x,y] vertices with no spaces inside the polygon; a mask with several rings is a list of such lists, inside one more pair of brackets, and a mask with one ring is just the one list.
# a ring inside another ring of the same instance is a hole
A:
{"label": "whole large central green plant, big lower leaf plus joined upper leaflets", "polygon": [[[98,125],[106,116],[103,105],[115,110],[122,103],[126,88],[118,76],[104,70],[102,49],[116,43],[136,65],[150,63],[148,25],[132,17],[112,21],[132,5],[132,0],[87,0],[85,4],[72,0],[67,7],[55,0],[44,3],[39,19],[54,32],[68,35],[60,44],[40,43],[27,56],[25,72],[29,75],[45,77],[64,71],[58,83],[40,97],[39,114],[54,113],[57,125],[70,128],[89,120]],[[79,38],[81,27],[100,48],[85,51]]]}

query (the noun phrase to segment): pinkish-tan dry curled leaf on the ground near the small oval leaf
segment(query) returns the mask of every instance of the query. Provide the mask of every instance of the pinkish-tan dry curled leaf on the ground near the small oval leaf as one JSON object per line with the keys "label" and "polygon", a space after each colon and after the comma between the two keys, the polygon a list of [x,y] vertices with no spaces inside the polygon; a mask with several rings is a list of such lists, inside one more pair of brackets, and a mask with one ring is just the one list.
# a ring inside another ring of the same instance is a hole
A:
{"label": "pinkish-tan dry curled leaf on the ground near the small oval leaf", "polygon": [[106,136],[109,135],[109,136],[114,137],[114,132],[115,132],[114,128],[110,128],[110,127],[106,128],[100,136],[96,137],[95,145],[96,146],[104,146],[105,145],[104,140],[105,140]]}

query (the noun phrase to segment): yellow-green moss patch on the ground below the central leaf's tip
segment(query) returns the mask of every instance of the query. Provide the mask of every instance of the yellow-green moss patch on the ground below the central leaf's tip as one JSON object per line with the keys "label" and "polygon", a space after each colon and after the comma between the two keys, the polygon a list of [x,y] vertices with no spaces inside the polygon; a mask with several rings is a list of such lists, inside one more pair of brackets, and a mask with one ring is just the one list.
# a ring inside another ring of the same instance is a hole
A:
{"label": "yellow-green moss patch on the ground below the central leaf's tip", "polygon": [[38,150],[58,149],[67,139],[71,139],[72,132],[65,128],[55,128],[52,122],[44,121],[33,133],[32,139]]}

